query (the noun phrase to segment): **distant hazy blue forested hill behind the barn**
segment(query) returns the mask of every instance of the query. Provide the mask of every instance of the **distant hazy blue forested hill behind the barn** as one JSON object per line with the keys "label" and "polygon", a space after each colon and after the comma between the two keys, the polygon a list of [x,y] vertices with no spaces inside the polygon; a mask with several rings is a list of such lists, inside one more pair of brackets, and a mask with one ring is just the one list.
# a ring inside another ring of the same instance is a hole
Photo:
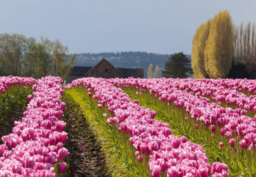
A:
{"label": "distant hazy blue forested hill behind the barn", "polygon": [[[153,64],[153,72],[155,66],[161,70],[164,68],[169,54],[157,54],[147,52],[103,52],[103,53],[76,53],[75,66],[94,66],[102,58],[106,58],[114,67],[122,68],[144,68],[144,77],[147,77],[148,65]],[[190,55],[187,56],[190,59]]]}

